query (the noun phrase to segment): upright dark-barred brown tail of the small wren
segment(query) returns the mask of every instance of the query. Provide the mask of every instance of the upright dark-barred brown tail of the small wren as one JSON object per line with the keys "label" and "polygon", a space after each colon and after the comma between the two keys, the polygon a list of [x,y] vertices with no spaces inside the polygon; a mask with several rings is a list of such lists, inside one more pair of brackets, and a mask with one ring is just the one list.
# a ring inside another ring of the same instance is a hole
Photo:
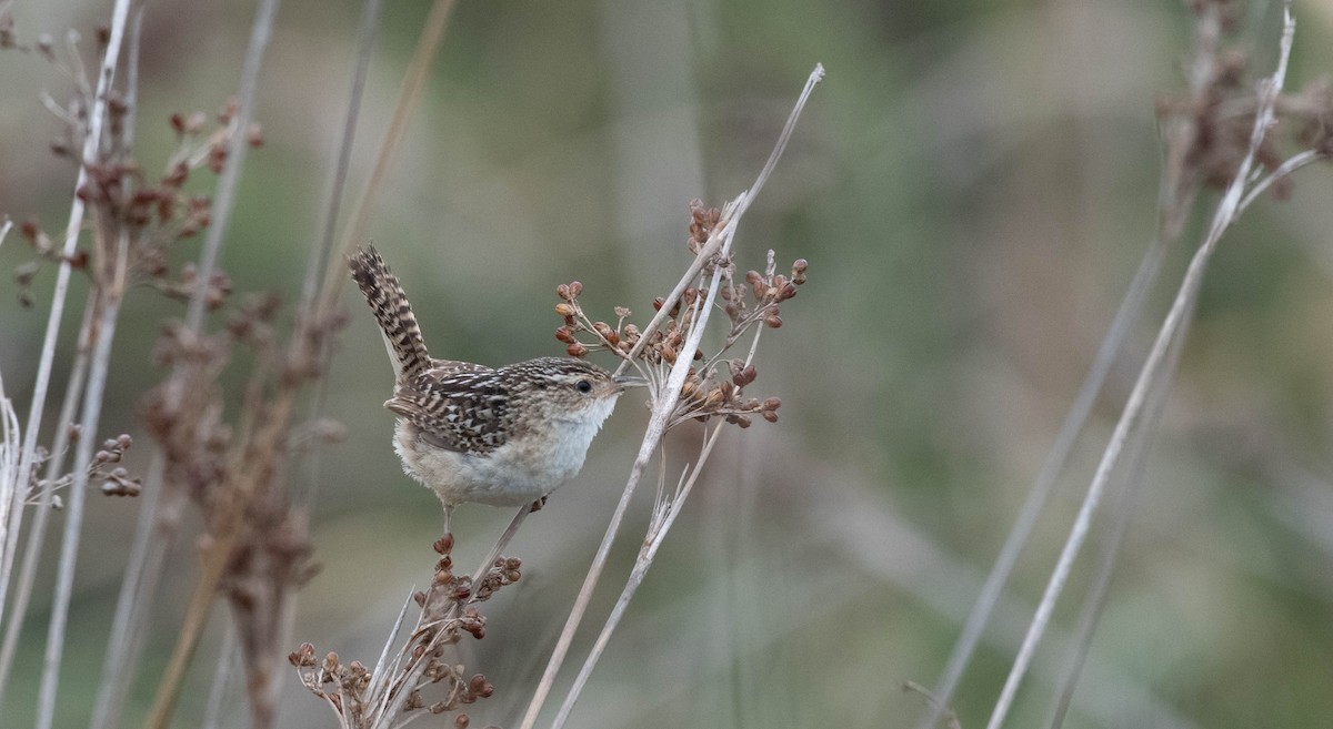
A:
{"label": "upright dark-barred brown tail of the small wren", "polygon": [[393,359],[397,382],[408,382],[429,370],[431,355],[427,354],[412,305],[408,303],[399,277],[380,258],[380,251],[367,245],[357,249],[347,265],[352,269],[352,279],[361,287],[365,302],[375,311],[375,321],[384,331],[384,343]]}

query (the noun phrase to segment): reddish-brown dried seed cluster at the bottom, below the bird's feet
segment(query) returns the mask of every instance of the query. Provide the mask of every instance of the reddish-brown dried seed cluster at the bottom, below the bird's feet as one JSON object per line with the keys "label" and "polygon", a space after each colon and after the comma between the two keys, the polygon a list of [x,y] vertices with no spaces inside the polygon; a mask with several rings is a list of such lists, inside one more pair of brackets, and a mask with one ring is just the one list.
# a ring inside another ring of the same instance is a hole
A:
{"label": "reddish-brown dried seed cluster at the bottom, below the bird's feet", "polygon": [[[440,560],[431,587],[412,596],[421,608],[421,616],[411,640],[391,665],[372,670],[360,661],[344,664],[337,653],[328,653],[319,661],[309,643],[288,655],[301,684],[329,704],[343,726],[380,726],[387,724],[387,718],[397,721],[399,716],[412,712],[459,712],[495,693],[495,686],[484,674],[469,676],[464,665],[447,662],[444,655],[447,647],[459,643],[464,633],[476,640],[485,637],[485,616],[476,603],[519,581],[521,563],[516,557],[499,557],[480,584],[473,585],[471,577],[453,572],[453,535],[439,539],[435,551]],[[423,693],[427,690],[443,693],[443,697],[427,704]],[[467,713],[455,714],[456,729],[469,725]]]}

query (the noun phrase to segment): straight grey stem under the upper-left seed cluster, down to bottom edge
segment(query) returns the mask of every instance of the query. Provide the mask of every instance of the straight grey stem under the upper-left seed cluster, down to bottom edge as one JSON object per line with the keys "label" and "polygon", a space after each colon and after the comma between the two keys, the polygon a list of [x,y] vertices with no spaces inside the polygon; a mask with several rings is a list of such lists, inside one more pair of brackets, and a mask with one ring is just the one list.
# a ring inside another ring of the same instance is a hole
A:
{"label": "straight grey stem under the upper-left seed cluster, down to bottom edge", "polygon": [[125,277],[129,258],[129,233],[121,231],[116,245],[115,279],[109,286],[96,291],[100,298],[100,313],[93,329],[93,350],[88,368],[88,388],[83,396],[80,427],[83,430],[75,446],[73,483],[69,486],[65,506],[65,528],[60,541],[60,567],[56,573],[56,593],[51,607],[51,624],[47,631],[47,653],[43,660],[41,688],[37,696],[37,729],[51,729],[56,714],[56,693],[60,686],[60,662],[64,653],[65,623],[69,617],[69,600],[73,596],[75,565],[79,560],[79,537],[83,531],[84,496],[88,492],[88,470],[83,467],[92,462],[93,446],[97,444],[97,426],[101,419],[101,403],[107,388],[107,371],[111,363],[111,345],[115,341],[116,319],[125,294]]}

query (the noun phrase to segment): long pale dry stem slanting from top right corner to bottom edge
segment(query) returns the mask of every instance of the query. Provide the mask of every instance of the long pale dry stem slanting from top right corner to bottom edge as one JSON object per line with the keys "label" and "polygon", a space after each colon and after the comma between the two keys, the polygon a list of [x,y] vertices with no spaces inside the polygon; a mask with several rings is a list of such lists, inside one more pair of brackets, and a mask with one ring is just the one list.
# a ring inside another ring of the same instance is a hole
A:
{"label": "long pale dry stem slanting from top right corner to bottom edge", "polygon": [[1213,251],[1217,249],[1217,242],[1221,239],[1222,233],[1240,214],[1240,202],[1245,192],[1249,172],[1254,165],[1254,157],[1264,141],[1264,137],[1273,125],[1274,100],[1277,98],[1277,94],[1282,88],[1282,81],[1286,77],[1286,64],[1292,53],[1292,37],[1294,32],[1296,20],[1292,17],[1290,0],[1286,0],[1284,3],[1284,28],[1280,44],[1278,65],[1272,78],[1260,84],[1260,102],[1258,110],[1256,112],[1254,129],[1250,134],[1249,150],[1245,154],[1245,158],[1241,160],[1230,185],[1228,185],[1222,200],[1218,202],[1217,212],[1213,216],[1213,222],[1209,226],[1208,234],[1190,259],[1184,281],[1176,294],[1176,299],[1172,302],[1170,311],[1166,314],[1166,319],[1162,322],[1157,339],[1153,342],[1153,349],[1148,354],[1148,361],[1144,363],[1142,370],[1140,370],[1138,379],[1134,382],[1134,388],[1129,395],[1129,400],[1125,403],[1120,420],[1116,423],[1116,430],[1110,436],[1110,442],[1106,444],[1101,463],[1097,466],[1097,471],[1093,475],[1092,484],[1088,487],[1088,495],[1084,498],[1084,503],[1074,519],[1073,527],[1069,532],[1069,539],[1065,541],[1065,547],[1060,553],[1060,560],[1056,563],[1050,580],[1046,583],[1046,589],[1041,597],[1041,603],[1037,605],[1037,612],[1032,619],[1032,624],[1028,628],[1026,636],[1024,636],[1024,641],[1018,649],[1017,657],[1014,658],[1014,664],[1009,670],[1004,688],[1000,692],[1000,698],[996,701],[994,709],[990,714],[990,721],[986,724],[988,729],[1000,729],[1000,726],[1004,725],[1009,706],[1013,704],[1013,698],[1018,692],[1018,684],[1022,681],[1022,676],[1026,672],[1028,665],[1032,662],[1032,656],[1036,652],[1037,643],[1040,643],[1042,633],[1045,632],[1045,627],[1050,620],[1050,613],[1054,609],[1056,600],[1064,591],[1065,581],[1069,577],[1069,571],[1073,567],[1073,560],[1078,556],[1078,551],[1088,536],[1088,529],[1092,524],[1092,515],[1101,500],[1106,482],[1120,462],[1129,434],[1140,424],[1138,422],[1144,416],[1144,406],[1148,402],[1148,394],[1157,387],[1158,379],[1169,375],[1169,368],[1165,366],[1169,361],[1168,353],[1170,351],[1174,339],[1184,337],[1188,330],[1189,319],[1193,315],[1194,303],[1198,298],[1198,290],[1202,286],[1204,271],[1208,269],[1208,262],[1212,258]]}

